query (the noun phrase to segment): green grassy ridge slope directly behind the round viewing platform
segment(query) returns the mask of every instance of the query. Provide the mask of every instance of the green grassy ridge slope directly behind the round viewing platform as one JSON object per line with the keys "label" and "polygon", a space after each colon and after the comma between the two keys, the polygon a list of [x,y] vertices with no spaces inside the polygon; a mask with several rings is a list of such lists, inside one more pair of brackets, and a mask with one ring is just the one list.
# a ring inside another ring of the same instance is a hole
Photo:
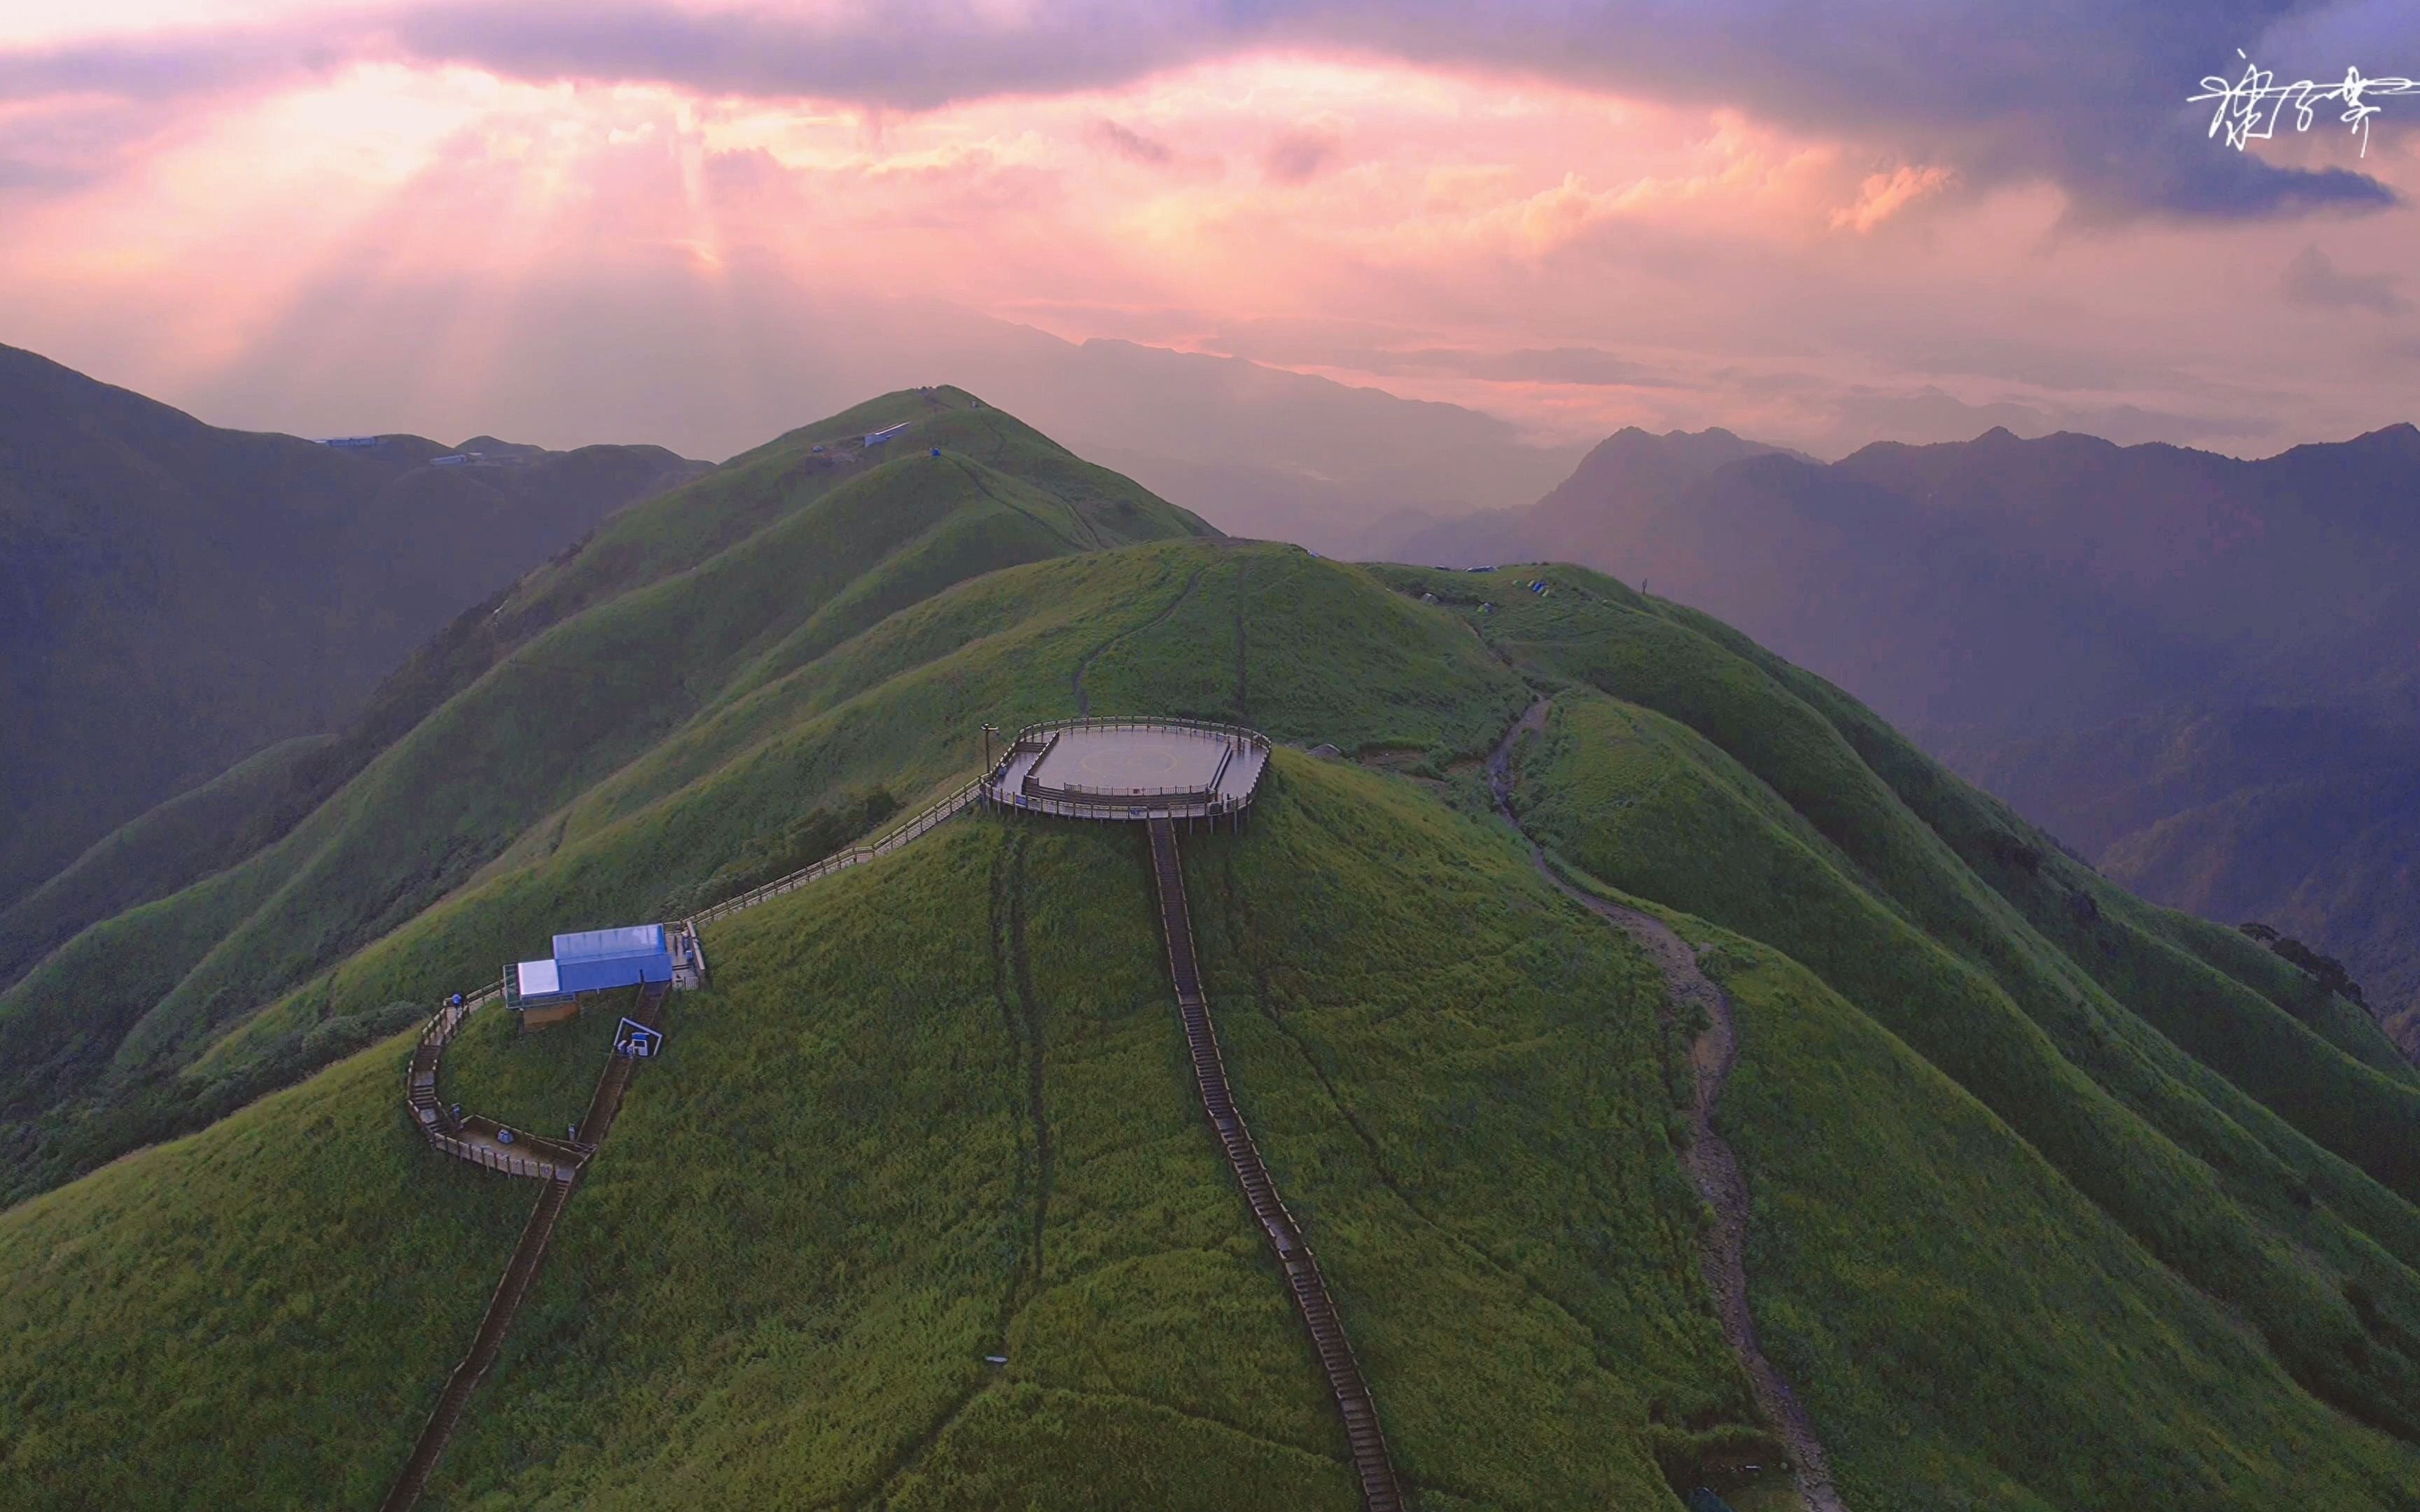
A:
{"label": "green grassy ridge slope directly behind the round viewing platform", "polygon": [[[1237,665],[1237,581],[1246,619],[1261,627],[1246,636],[1244,665],[1273,689],[1251,709],[1268,731],[1476,752],[1522,706],[1520,680],[1474,636],[1394,602],[1355,569],[1292,547],[1157,544],[995,573],[692,721],[532,825],[479,881],[281,999],[196,1069],[232,1072],[257,1038],[329,1011],[445,992],[460,985],[465,960],[508,960],[561,919],[656,917],[666,902],[692,900],[753,835],[799,813],[845,806],[874,786],[915,803],[980,762],[985,719],[1014,728],[1072,714],[1079,668],[1101,709],[1179,702],[1203,648],[1220,677]],[[1227,585],[1227,598],[1193,624],[1188,610],[1217,600],[1205,583]],[[1333,622],[1300,619],[1307,602],[1350,605],[1377,634],[1338,639]],[[1094,656],[1106,641],[1120,660]],[[1423,658],[1418,702],[1375,697]],[[1154,677],[1174,692],[1157,692]],[[1232,714],[1220,702],[1193,711]]]}

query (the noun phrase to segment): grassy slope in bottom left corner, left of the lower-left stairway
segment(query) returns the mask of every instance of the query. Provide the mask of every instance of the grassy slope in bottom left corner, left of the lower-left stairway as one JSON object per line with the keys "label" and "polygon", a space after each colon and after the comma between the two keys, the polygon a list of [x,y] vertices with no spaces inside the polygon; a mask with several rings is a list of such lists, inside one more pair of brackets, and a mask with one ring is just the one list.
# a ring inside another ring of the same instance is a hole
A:
{"label": "grassy slope in bottom left corner, left of the lower-left stairway", "polygon": [[0,1505],[378,1505],[535,1195],[402,1135],[397,1055],[0,1214]]}

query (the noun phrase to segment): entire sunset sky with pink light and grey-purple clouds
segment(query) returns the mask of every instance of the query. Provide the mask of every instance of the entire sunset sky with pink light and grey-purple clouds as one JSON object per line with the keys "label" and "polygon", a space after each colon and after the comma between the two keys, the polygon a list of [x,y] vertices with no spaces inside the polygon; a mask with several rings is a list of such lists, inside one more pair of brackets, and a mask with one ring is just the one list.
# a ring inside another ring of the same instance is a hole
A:
{"label": "entire sunset sky with pink light and grey-purple clouds", "polygon": [[2420,419],[2420,92],[2238,150],[2251,63],[2420,75],[2420,7],[0,0],[0,341],[704,457],[1002,322],[1556,445]]}

